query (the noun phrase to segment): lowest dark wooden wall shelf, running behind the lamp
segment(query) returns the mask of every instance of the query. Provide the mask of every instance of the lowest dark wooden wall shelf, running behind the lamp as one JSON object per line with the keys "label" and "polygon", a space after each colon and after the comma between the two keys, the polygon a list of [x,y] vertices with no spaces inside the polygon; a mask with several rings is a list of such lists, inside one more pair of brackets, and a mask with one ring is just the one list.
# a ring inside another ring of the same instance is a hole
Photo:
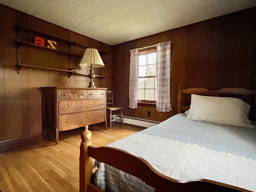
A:
{"label": "lowest dark wooden wall shelf, running behind the lamp", "polygon": [[[71,75],[82,75],[82,76],[88,76],[88,74],[81,74],[77,73],[76,71],[72,71],[74,68],[71,68],[70,70],[64,70],[64,69],[56,69],[56,68],[49,68],[49,67],[40,67],[40,66],[32,66],[32,65],[26,65],[26,64],[16,64],[15,67],[18,70],[18,74],[20,73],[20,68],[26,67],[26,68],[34,68],[34,69],[42,69],[42,70],[51,70],[51,71],[58,71],[58,72],[66,72],[68,73],[68,78]],[[96,75],[98,78],[105,78],[104,76]]]}

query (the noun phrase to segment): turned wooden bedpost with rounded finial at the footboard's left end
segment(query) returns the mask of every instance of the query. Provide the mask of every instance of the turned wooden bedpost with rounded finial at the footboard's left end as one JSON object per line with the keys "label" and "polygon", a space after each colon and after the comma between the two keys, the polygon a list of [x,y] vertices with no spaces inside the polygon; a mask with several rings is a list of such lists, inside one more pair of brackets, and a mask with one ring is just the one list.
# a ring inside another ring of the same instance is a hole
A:
{"label": "turned wooden bedpost with rounded finial at the footboard's left end", "polygon": [[91,145],[92,132],[88,130],[88,125],[84,126],[81,133],[82,142],[80,145],[79,158],[79,192],[87,192],[92,176],[92,158],[87,156],[87,147]]}

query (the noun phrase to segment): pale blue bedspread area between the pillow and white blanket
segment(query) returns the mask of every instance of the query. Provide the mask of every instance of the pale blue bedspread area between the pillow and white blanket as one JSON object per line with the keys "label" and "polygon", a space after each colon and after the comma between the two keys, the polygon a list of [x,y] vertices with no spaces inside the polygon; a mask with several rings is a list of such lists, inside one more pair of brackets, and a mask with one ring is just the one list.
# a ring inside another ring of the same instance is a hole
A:
{"label": "pale blue bedspread area between the pillow and white blanket", "polygon": [[179,113],[141,132],[256,160],[256,128],[186,120]]}

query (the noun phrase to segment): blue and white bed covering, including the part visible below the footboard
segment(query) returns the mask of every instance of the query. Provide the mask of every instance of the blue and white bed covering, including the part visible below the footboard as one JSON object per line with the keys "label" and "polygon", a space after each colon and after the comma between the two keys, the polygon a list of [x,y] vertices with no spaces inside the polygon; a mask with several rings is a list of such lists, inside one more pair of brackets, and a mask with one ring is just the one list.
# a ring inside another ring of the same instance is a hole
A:
{"label": "blue and white bed covering, including the part visible below the footboard", "polygon": [[[108,146],[140,156],[177,180],[204,178],[256,191],[256,128],[186,120],[185,114],[177,114]],[[95,178],[103,190],[154,191],[102,163]]]}

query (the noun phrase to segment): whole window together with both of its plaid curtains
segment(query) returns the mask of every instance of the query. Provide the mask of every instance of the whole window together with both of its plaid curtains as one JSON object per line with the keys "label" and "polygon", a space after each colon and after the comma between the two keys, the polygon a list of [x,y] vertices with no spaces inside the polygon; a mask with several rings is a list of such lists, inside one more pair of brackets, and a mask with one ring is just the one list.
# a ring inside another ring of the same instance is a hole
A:
{"label": "whole window together with both of its plaid curtains", "polygon": [[[143,50],[143,51],[142,51]],[[169,112],[171,41],[130,50],[129,108],[156,106]],[[155,66],[155,67],[154,67]]]}

